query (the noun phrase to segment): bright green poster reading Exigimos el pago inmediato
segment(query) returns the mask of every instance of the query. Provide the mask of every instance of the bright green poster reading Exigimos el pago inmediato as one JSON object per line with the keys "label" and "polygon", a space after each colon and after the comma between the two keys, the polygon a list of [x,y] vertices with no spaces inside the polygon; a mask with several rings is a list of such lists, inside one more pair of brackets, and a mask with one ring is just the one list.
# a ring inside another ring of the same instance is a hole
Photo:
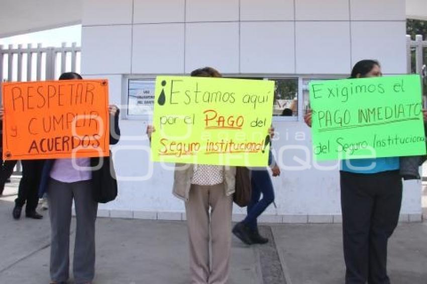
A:
{"label": "bright green poster reading Exigimos el pago inmediato", "polygon": [[418,75],[312,81],[317,161],[425,154]]}

